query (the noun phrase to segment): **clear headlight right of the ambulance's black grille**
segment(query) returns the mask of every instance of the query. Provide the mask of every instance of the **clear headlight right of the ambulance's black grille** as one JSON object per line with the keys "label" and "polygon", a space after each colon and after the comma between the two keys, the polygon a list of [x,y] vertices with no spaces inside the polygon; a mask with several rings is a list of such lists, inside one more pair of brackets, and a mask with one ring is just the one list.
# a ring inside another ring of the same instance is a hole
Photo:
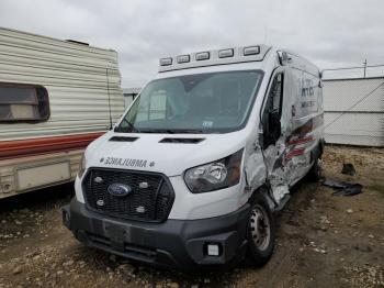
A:
{"label": "clear headlight right of the ambulance's black grille", "polygon": [[223,159],[188,169],[184,181],[193,193],[234,186],[240,180],[242,149]]}

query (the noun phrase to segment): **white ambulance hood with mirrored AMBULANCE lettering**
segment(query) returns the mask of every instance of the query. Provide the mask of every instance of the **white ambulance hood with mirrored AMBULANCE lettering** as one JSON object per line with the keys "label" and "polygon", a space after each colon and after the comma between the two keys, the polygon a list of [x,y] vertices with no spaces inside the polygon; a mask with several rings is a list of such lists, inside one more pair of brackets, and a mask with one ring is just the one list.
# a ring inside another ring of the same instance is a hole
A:
{"label": "white ambulance hood with mirrored AMBULANCE lettering", "polygon": [[149,134],[108,132],[86,151],[87,168],[104,167],[178,176],[236,153],[244,132],[227,134]]}

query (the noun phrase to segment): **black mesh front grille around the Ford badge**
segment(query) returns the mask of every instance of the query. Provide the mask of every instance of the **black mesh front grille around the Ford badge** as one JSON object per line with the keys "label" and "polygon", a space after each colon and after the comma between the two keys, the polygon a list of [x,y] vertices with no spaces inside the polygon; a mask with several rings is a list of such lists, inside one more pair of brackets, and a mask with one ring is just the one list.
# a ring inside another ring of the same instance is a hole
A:
{"label": "black mesh front grille around the Ford badge", "polygon": [[[132,188],[125,197],[109,192],[113,184]],[[142,184],[142,187],[140,187]],[[82,182],[87,207],[116,218],[162,222],[173,203],[173,190],[161,174],[91,168]]]}

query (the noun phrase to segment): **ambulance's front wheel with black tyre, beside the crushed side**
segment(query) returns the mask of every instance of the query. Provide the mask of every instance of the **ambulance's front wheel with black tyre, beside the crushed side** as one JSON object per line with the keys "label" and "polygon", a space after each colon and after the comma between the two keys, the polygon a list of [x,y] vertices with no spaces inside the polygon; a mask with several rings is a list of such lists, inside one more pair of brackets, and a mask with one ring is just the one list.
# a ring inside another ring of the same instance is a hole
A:
{"label": "ambulance's front wheel with black tyre, beside the crushed side", "polygon": [[256,266],[264,265],[272,256],[275,241],[275,221],[273,213],[260,191],[256,191],[248,220],[248,259]]}

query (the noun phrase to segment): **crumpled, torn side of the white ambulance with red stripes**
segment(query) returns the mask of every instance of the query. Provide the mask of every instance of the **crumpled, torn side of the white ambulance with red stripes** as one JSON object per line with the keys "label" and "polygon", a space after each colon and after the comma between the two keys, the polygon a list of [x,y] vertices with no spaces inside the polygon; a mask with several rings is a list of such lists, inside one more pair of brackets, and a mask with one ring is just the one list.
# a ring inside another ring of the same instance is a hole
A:
{"label": "crumpled, torn side of the white ambulance with red stripes", "polygon": [[[278,204],[290,193],[290,187],[310,169],[312,152],[319,145],[324,123],[320,79],[298,69],[286,68],[283,74],[281,134],[274,144],[263,149],[268,180]],[[275,93],[270,91],[268,97],[273,98]]]}

